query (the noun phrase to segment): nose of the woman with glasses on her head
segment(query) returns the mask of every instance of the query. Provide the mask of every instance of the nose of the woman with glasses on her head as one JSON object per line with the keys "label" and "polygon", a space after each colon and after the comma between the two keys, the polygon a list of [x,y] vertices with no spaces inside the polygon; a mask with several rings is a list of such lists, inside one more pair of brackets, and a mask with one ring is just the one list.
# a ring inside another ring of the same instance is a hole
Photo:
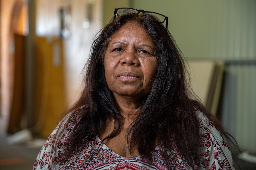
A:
{"label": "nose of the woman with glasses on her head", "polygon": [[139,59],[137,55],[134,51],[125,52],[120,60],[121,65],[138,66]]}

